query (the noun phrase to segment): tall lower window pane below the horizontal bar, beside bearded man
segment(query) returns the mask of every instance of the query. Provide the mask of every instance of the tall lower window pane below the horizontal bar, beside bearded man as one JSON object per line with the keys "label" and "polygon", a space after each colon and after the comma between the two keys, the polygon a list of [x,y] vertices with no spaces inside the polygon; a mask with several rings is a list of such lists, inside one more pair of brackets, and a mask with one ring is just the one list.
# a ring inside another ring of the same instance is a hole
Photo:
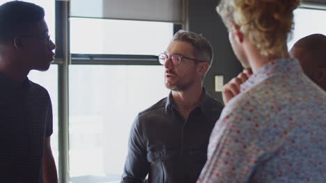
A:
{"label": "tall lower window pane below the horizontal bar, beside bearded man", "polygon": [[169,92],[163,73],[161,66],[70,67],[72,182],[121,179],[134,118]]}

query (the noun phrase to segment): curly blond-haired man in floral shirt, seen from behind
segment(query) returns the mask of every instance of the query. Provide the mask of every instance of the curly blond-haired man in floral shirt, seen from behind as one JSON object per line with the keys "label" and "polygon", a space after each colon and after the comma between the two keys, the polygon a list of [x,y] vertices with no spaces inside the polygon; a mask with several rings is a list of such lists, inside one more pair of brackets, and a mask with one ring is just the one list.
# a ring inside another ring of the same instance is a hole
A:
{"label": "curly blond-haired man in floral shirt, seen from behind", "polygon": [[252,76],[215,124],[201,182],[325,182],[326,93],[290,58],[299,0],[222,0],[217,11]]}

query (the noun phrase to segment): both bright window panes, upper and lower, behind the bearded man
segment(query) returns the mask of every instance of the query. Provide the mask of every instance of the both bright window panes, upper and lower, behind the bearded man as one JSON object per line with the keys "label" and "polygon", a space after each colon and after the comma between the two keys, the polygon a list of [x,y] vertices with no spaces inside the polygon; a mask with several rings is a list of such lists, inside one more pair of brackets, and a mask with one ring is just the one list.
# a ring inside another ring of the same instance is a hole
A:
{"label": "both bright window panes, upper and lower, behind the bearded man", "polygon": [[172,36],[172,23],[70,18],[70,182],[120,182],[134,118],[169,94],[153,55]]}

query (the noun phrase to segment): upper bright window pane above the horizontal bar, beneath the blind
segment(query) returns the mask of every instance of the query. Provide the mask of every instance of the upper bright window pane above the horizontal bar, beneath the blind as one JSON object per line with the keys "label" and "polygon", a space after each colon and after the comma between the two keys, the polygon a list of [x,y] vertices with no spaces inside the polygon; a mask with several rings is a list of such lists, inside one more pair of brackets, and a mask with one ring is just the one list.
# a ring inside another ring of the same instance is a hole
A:
{"label": "upper bright window pane above the horizontal bar, beneath the blind", "polygon": [[71,53],[157,55],[172,35],[172,23],[70,18]]}

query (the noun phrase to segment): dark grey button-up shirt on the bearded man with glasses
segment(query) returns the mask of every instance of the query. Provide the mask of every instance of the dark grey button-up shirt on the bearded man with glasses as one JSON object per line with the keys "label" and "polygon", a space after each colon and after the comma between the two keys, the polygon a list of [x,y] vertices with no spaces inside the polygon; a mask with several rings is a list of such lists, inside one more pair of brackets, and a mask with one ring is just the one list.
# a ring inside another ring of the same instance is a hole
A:
{"label": "dark grey button-up shirt on the bearded man with glasses", "polygon": [[140,112],[130,132],[122,182],[196,182],[207,159],[210,132],[223,105],[206,94],[188,119],[171,94]]}

